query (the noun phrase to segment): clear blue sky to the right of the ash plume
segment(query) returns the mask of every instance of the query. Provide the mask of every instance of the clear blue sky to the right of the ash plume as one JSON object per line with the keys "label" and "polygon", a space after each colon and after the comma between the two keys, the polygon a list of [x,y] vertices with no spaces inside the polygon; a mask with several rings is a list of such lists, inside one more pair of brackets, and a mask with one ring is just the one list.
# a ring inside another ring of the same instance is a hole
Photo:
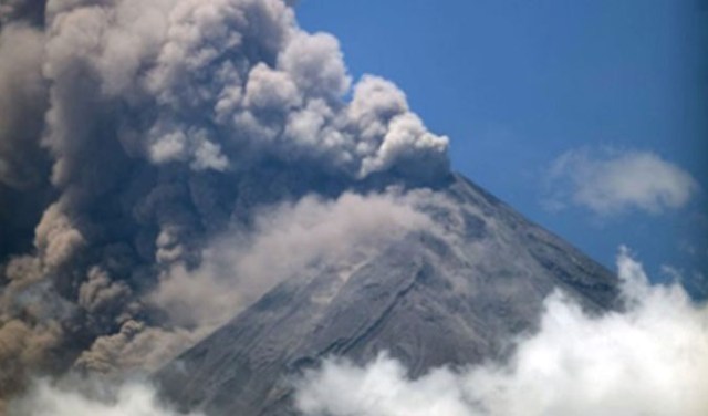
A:
{"label": "clear blue sky to the right of the ash plume", "polygon": [[[355,79],[399,85],[450,137],[454,169],[532,220],[608,267],[624,243],[656,280],[664,264],[708,274],[706,2],[301,0],[298,14],[339,38]],[[610,167],[668,199],[583,202]]]}

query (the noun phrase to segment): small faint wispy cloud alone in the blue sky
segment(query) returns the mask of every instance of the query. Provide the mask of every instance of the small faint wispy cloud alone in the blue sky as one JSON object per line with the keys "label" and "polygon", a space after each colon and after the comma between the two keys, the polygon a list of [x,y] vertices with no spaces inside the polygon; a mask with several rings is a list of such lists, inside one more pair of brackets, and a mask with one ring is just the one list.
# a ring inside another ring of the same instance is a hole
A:
{"label": "small faint wispy cloud alone in the blue sky", "polygon": [[568,202],[608,216],[632,209],[660,214],[685,206],[699,186],[679,166],[649,152],[571,150],[550,170],[551,206]]}

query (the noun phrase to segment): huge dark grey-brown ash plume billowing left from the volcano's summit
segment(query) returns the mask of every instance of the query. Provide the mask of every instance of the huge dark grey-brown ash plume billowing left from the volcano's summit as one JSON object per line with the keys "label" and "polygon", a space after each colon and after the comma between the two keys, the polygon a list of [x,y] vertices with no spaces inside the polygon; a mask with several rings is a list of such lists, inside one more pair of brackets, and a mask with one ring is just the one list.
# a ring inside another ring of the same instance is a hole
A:
{"label": "huge dark grey-brown ash plume billowing left from the volcano's summit", "polygon": [[391,82],[352,84],[337,41],[289,6],[0,6],[1,396],[202,336],[155,299],[262,207],[448,174],[447,138]]}

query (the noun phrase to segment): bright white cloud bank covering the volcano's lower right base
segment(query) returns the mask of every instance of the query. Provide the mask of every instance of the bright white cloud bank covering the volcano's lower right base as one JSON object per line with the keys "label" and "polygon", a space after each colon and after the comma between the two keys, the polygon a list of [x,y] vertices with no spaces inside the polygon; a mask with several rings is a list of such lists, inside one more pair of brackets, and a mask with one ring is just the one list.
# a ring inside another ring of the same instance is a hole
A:
{"label": "bright white cloud bank covering the volcano's lower right base", "polygon": [[708,305],[677,283],[649,285],[624,248],[617,266],[626,310],[589,316],[556,292],[509,363],[412,379],[386,355],[333,358],[298,383],[295,403],[308,416],[707,414]]}

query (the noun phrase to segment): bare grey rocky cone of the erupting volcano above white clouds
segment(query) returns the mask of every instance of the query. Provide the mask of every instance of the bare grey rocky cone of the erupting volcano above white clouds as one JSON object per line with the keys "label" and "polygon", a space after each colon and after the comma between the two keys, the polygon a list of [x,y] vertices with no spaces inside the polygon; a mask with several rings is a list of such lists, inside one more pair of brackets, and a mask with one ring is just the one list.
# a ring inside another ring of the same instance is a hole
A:
{"label": "bare grey rocky cone of the erupting volcano above white clouds", "polygon": [[462,177],[439,194],[426,210],[444,235],[281,283],[158,372],[164,394],[210,415],[292,415],[290,376],[324,356],[388,351],[416,376],[507,355],[554,288],[615,305],[616,278],[569,243]]}

